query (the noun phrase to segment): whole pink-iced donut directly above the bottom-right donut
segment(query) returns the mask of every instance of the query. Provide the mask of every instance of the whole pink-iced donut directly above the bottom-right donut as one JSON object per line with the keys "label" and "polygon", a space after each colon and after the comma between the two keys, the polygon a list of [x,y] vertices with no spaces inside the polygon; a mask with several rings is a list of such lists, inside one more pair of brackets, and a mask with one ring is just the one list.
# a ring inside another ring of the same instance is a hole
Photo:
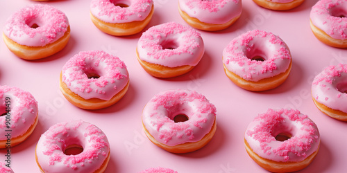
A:
{"label": "whole pink-iced donut directly above the bottom-right donut", "polygon": [[223,67],[237,86],[265,91],[285,82],[291,70],[291,55],[280,37],[251,30],[232,39],[224,48]]}

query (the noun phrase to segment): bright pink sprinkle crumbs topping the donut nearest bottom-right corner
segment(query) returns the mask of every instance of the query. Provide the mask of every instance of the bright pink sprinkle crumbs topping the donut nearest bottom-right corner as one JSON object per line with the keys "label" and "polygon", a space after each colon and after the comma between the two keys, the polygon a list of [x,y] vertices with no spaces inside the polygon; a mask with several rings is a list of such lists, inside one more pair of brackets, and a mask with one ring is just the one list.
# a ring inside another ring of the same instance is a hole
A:
{"label": "bright pink sprinkle crumbs topping the donut nearest bottom-right corner", "polygon": [[[276,134],[278,131],[289,131],[289,129],[282,129],[281,123],[285,122],[286,119],[295,123],[300,122],[303,127],[297,130],[305,132],[301,135],[294,135],[283,142],[278,142],[280,145],[277,148],[271,148],[269,143],[276,141],[273,134]],[[310,118],[301,114],[298,110],[280,109],[275,111],[269,109],[266,113],[257,116],[253,121],[259,121],[259,123],[253,129],[247,129],[246,135],[257,140],[264,153],[282,156],[284,161],[289,161],[291,154],[305,158],[307,156],[306,151],[311,148],[312,143],[319,143],[319,132],[316,125]]]}

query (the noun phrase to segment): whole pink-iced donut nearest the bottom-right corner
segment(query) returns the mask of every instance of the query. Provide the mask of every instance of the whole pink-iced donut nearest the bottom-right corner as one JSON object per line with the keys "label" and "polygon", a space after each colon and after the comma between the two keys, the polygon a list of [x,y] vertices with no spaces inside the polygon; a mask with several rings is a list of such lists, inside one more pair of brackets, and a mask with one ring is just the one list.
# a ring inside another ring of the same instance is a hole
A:
{"label": "whole pink-iced donut nearest the bottom-right corner", "polygon": [[248,155],[270,172],[294,172],[310,165],[319,150],[316,124],[294,109],[268,109],[244,134]]}

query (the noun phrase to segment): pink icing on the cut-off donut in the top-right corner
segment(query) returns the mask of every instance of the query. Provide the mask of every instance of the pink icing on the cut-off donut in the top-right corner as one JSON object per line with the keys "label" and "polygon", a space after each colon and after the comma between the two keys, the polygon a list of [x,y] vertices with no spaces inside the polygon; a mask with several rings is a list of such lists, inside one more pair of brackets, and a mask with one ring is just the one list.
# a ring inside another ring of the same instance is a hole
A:
{"label": "pink icing on the cut-off donut in the top-right corner", "polygon": [[[344,17],[340,17],[344,16]],[[347,39],[347,1],[321,0],[311,10],[312,24],[334,39]]]}

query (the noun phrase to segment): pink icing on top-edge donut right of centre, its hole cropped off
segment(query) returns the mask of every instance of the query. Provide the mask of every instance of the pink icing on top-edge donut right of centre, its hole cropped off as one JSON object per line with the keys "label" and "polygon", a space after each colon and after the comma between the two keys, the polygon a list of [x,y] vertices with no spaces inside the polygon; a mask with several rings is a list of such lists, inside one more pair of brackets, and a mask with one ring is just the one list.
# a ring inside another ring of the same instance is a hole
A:
{"label": "pink icing on top-edge donut right of centre, its hole cropped off", "polygon": [[225,24],[241,15],[241,0],[179,0],[180,10],[208,24]]}

